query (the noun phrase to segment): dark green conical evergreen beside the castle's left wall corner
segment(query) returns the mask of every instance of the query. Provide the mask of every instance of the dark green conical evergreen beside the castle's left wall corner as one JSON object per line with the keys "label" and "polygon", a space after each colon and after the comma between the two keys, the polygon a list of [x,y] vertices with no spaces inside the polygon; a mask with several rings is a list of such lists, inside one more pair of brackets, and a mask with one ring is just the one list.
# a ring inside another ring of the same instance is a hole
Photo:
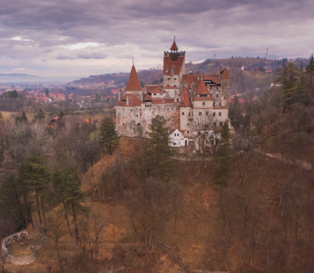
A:
{"label": "dark green conical evergreen beside the castle's left wall corner", "polygon": [[109,151],[110,155],[113,149],[119,144],[120,136],[115,131],[115,123],[106,116],[99,128],[100,144]]}

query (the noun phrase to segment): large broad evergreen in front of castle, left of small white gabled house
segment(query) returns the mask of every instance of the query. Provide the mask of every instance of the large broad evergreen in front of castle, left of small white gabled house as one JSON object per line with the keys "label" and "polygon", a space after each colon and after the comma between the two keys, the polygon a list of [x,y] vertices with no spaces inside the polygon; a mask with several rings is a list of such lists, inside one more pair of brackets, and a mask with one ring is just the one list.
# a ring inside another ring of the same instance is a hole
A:
{"label": "large broad evergreen in front of castle, left of small white gabled house", "polygon": [[148,175],[168,177],[173,170],[171,156],[174,150],[169,146],[168,128],[165,119],[157,115],[149,125],[148,139],[144,143],[143,167]]}

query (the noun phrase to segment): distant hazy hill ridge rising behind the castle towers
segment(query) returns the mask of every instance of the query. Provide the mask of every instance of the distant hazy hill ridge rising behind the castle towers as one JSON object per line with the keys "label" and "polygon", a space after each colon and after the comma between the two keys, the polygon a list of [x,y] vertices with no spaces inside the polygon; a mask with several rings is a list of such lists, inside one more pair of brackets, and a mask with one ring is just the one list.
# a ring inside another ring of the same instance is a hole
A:
{"label": "distant hazy hill ridge rising behind the castle towers", "polygon": [[[239,68],[245,65],[248,70],[242,71]],[[281,63],[268,60],[271,69],[277,69]],[[270,85],[275,79],[275,72],[273,74],[266,74],[263,69],[265,66],[265,59],[259,58],[228,58],[228,59],[207,59],[203,62],[193,64],[191,62],[185,64],[185,71],[192,71],[197,73],[215,74],[222,68],[229,67],[230,76],[232,77],[230,91],[234,93],[254,90],[257,87]],[[251,71],[250,68],[258,68],[258,71]],[[239,70],[239,71],[238,71]],[[142,86],[144,84],[158,84],[162,82],[162,70],[141,70],[137,72],[138,78]],[[120,88],[125,87],[125,82],[128,80],[129,73],[111,73],[101,75],[90,75],[86,78],[80,78],[67,83],[67,86],[75,86],[82,88]],[[233,86],[232,86],[233,84]]]}

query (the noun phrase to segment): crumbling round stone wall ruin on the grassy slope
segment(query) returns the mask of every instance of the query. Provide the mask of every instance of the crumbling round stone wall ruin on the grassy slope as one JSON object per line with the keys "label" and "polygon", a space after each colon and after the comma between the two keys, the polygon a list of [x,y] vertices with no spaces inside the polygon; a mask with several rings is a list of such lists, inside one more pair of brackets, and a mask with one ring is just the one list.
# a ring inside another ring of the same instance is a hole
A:
{"label": "crumbling round stone wall ruin on the grassy slope", "polygon": [[[25,256],[25,257],[14,257],[13,255],[8,253],[7,246],[15,241],[18,241],[22,238],[28,238],[28,239],[39,239],[39,243],[34,243],[27,248],[32,251],[33,253],[31,255]],[[42,233],[37,233],[34,236],[28,236],[28,231],[23,230],[20,232],[13,233],[7,237],[5,237],[1,242],[1,255],[5,262],[10,262],[13,264],[29,264],[34,262],[37,259],[37,250],[40,249],[48,240],[48,237]]]}

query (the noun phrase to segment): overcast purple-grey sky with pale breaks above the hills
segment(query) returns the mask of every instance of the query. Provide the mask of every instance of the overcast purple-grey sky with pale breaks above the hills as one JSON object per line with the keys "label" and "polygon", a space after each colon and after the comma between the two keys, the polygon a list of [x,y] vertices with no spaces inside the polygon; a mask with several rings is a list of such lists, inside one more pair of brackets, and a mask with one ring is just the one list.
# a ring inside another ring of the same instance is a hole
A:
{"label": "overcast purple-grey sky with pale breaks above the hills", "polygon": [[312,0],[1,0],[0,73],[88,76],[186,61],[309,57]]}

